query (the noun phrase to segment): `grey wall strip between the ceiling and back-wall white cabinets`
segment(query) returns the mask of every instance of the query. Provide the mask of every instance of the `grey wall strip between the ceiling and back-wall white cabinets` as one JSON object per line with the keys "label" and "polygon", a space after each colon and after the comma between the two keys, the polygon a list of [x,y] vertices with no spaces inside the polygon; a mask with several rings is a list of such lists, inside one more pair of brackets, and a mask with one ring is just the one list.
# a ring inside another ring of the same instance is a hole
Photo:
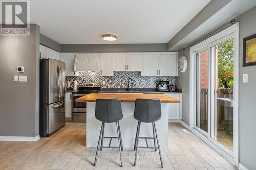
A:
{"label": "grey wall strip between the ceiling and back-wall white cabinets", "polygon": [[166,44],[61,44],[61,52],[166,52]]}

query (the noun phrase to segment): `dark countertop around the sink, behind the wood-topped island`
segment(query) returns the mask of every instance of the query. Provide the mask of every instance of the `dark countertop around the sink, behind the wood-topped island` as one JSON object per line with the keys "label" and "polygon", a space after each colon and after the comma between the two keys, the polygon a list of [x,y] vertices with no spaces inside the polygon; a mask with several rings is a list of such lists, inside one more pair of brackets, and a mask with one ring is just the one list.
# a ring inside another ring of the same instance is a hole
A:
{"label": "dark countertop around the sink, behind the wood-topped island", "polygon": [[[118,91],[124,88],[102,88],[99,93],[181,93],[180,89],[175,91],[158,91],[156,88],[138,88],[138,91]],[[132,89],[133,90],[133,89]]]}

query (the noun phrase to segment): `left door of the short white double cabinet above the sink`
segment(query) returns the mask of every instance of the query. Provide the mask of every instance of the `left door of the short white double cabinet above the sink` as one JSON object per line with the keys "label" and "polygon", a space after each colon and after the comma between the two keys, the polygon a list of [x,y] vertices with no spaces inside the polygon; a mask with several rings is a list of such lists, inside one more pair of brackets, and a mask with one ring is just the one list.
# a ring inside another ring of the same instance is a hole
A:
{"label": "left door of the short white double cabinet above the sink", "polygon": [[125,71],[126,70],[126,53],[113,53],[113,65],[114,71]]}

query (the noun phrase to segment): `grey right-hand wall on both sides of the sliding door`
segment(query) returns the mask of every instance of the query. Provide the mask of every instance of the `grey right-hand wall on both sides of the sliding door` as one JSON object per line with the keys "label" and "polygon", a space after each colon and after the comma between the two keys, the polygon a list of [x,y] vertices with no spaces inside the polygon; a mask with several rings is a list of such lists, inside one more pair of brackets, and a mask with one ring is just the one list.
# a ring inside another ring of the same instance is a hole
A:
{"label": "grey right-hand wall on both sides of the sliding door", "polygon": [[[239,28],[239,152],[240,163],[247,169],[255,169],[256,136],[256,65],[242,67],[243,38],[256,34],[256,6],[236,18]],[[189,48],[179,51],[179,57],[185,55],[189,62]],[[248,73],[248,83],[243,83],[243,73]],[[182,120],[189,125],[189,68],[179,72],[179,88],[182,88]]]}

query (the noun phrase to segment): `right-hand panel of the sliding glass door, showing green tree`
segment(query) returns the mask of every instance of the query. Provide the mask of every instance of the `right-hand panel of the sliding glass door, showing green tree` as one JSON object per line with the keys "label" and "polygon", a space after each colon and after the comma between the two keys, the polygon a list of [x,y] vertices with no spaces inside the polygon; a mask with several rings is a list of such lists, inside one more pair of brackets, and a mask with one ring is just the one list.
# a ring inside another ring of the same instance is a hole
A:
{"label": "right-hand panel of the sliding glass door, showing green tree", "polygon": [[233,151],[233,85],[234,85],[234,41],[220,39],[210,47],[214,58],[212,69],[212,113],[211,139],[222,147]]}

